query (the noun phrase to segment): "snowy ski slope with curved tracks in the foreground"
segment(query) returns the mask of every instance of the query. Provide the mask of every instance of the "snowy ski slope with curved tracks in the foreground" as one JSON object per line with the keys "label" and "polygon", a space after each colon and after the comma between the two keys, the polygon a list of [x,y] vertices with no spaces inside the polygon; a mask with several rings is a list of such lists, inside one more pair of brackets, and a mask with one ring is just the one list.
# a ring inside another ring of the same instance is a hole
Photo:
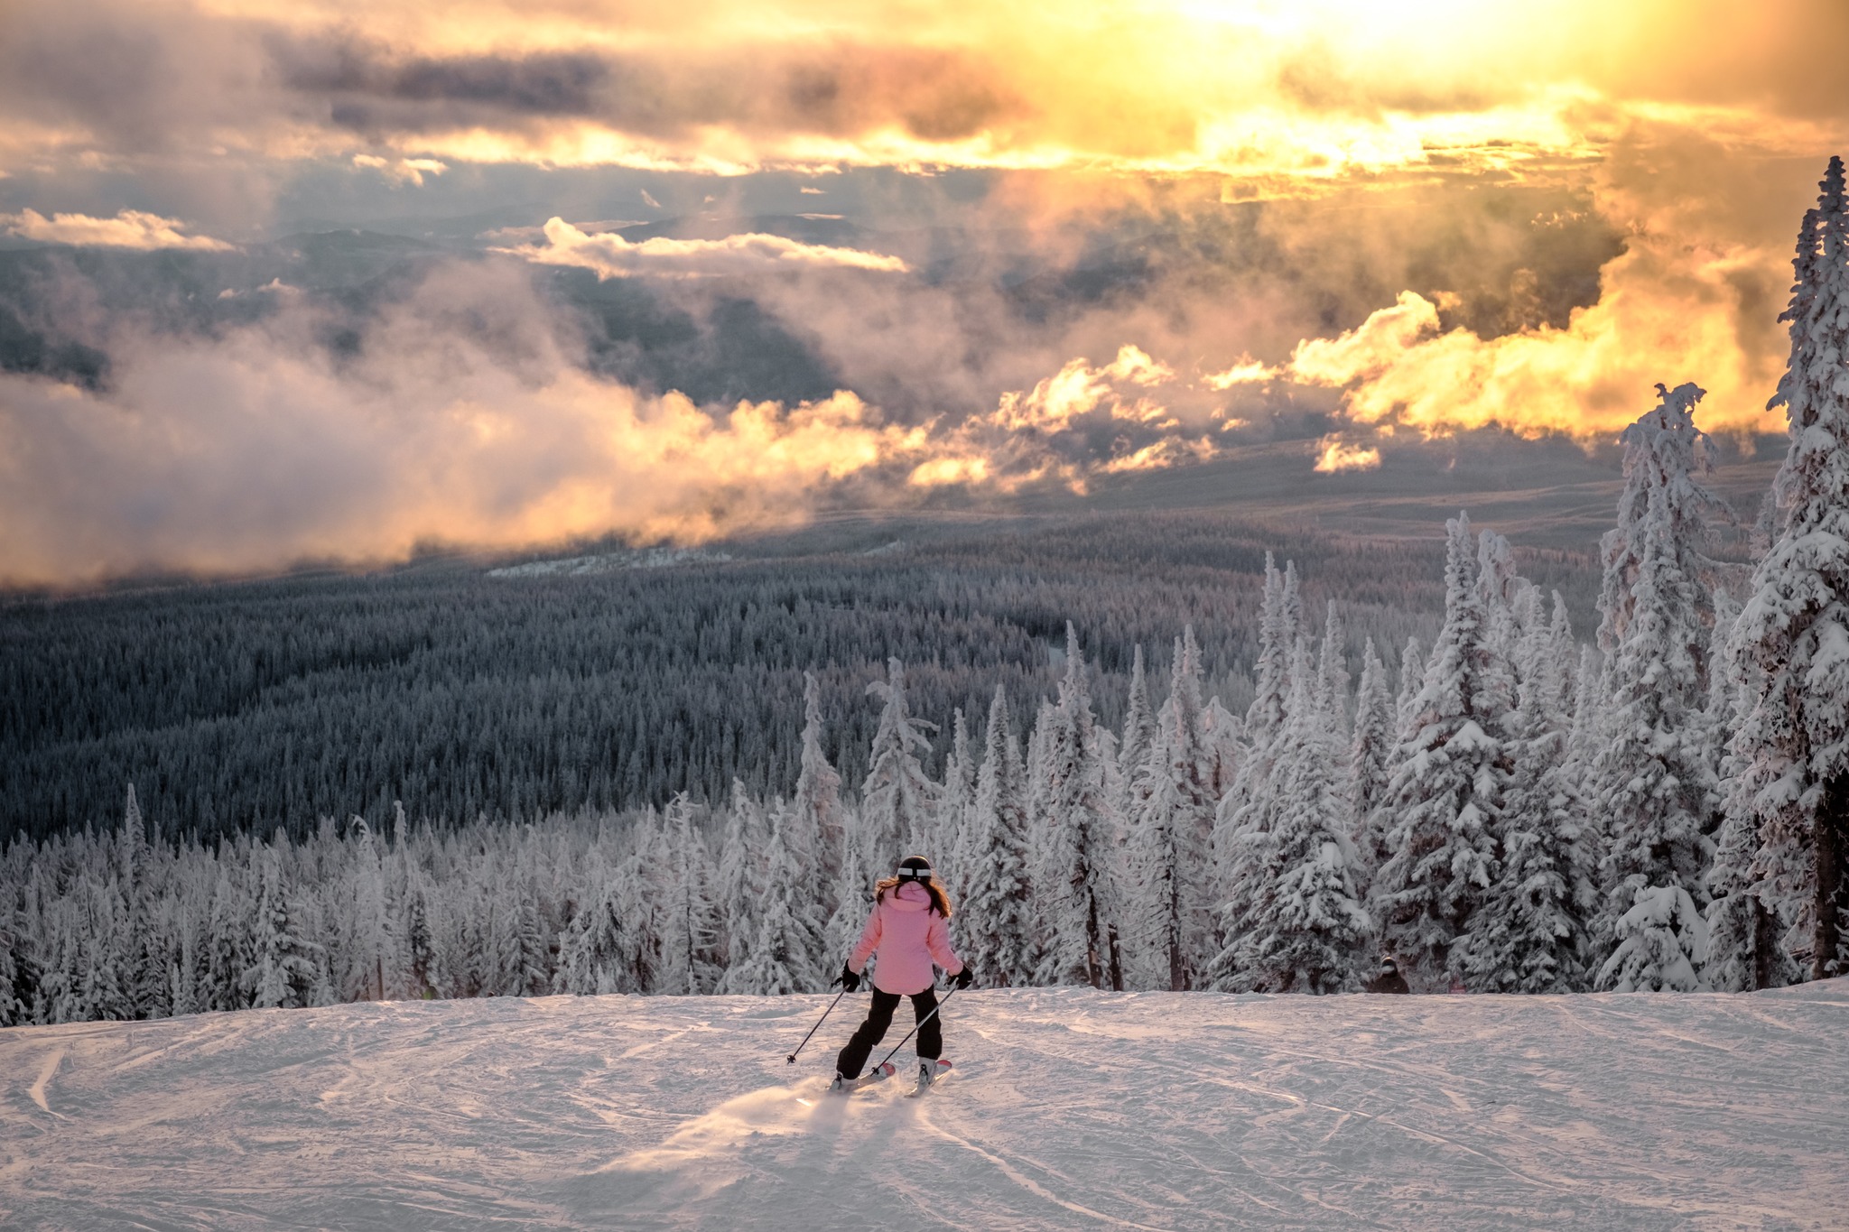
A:
{"label": "snowy ski slope with curved tracks in the foreground", "polygon": [[823,1005],[486,999],[0,1031],[0,1225],[1559,1232],[1840,1228],[1849,1210],[1849,981],[973,992],[947,1009],[956,1073],[924,1099],[902,1099],[904,1071],[821,1093],[852,1027],[839,1010],[786,1068]]}

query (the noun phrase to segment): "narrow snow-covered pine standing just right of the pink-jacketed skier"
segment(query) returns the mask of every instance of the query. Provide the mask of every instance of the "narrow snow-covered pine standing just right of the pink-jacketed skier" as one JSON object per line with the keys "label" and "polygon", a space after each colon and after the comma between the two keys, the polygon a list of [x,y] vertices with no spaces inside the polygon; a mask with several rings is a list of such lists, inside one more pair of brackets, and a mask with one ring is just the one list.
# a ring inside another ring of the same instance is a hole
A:
{"label": "narrow snow-covered pine standing just right of the pink-jacketed skier", "polygon": [[982,768],[971,802],[960,861],[963,896],[952,920],[958,953],[986,988],[1034,981],[1028,946],[1026,811],[1019,794],[1015,737],[1008,728],[1008,695],[995,687],[982,741]]}

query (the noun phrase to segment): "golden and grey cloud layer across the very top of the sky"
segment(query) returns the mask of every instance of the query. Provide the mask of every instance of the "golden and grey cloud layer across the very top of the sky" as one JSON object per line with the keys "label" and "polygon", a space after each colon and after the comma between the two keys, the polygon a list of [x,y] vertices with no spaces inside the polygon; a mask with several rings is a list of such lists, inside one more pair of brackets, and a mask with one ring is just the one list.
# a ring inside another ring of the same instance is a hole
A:
{"label": "golden and grey cloud layer across the very top of the sky", "polygon": [[1026,0],[26,0],[7,22],[0,118],[41,155],[1093,168],[1268,194],[1548,175],[1623,118],[1786,146],[1849,120],[1834,0],[1148,0],[1059,22]]}

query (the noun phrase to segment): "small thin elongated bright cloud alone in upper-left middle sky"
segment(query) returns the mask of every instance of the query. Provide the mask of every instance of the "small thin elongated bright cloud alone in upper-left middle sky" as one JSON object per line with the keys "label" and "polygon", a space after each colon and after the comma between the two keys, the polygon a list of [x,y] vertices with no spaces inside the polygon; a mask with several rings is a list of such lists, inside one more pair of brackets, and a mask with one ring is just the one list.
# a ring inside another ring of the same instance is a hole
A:
{"label": "small thin elongated bright cloud alone in upper-left middle sky", "polygon": [[854,248],[801,244],[780,235],[730,235],[723,240],[673,240],[655,236],[631,242],[614,231],[586,235],[553,218],[544,227],[545,244],[497,249],[545,266],[594,270],[599,279],[655,273],[666,277],[714,277],[758,273],[769,268],[838,268],[904,273],[899,257],[863,253]]}

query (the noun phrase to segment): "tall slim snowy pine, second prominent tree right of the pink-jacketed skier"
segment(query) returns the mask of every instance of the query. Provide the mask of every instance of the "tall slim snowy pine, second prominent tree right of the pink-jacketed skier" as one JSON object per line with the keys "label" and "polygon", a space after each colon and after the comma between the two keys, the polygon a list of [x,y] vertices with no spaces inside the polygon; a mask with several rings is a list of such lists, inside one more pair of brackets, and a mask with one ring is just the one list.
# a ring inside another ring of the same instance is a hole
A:
{"label": "tall slim snowy pine, second prominent tree right of the pink-jacketed skier", "polygon": [[1041,914],[1043,953],[1037,983],[1091,984],[1108,975],[1109,949],[1109,811],[1096,757],[1091,689],[1078,634],[1065,626],[1065,678],[1059,682],[1058,722],[1045,743],[1035,792],[1045,837],[1034,870],[1034,900]]}

